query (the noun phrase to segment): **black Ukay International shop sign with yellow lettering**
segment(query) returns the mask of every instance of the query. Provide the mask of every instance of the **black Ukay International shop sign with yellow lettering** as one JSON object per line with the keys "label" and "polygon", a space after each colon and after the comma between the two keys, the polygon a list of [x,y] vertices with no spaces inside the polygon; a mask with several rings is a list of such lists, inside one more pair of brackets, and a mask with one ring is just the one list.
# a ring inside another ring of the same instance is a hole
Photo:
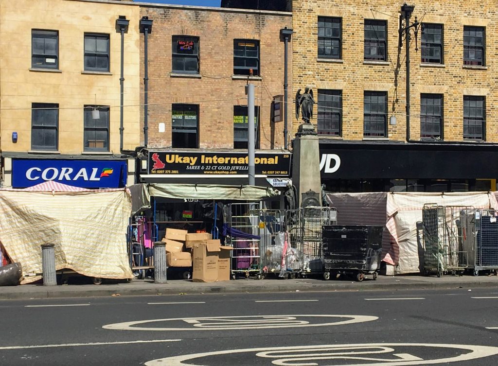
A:
{"label": "black Ukay International shop sign with yellow lettering", "polygon": [[[290,153],[256,152],[256,174],[288,177]],[[248,174],[246,152],[149,151],[149,174]]]}

